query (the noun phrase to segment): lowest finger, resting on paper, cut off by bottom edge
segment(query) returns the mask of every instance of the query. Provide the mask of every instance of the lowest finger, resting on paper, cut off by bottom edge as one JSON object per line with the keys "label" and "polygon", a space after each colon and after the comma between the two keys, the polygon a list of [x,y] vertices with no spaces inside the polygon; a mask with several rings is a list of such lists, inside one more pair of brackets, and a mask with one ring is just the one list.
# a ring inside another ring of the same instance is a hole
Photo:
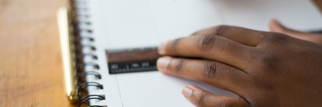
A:
{"label": "lowest finger, resting on paper, cut off by bottom edge", "polygon": [[218,96],[195,85],[186,85],[182,94],[198,107],[248,107],[250,105],[242,98]]}

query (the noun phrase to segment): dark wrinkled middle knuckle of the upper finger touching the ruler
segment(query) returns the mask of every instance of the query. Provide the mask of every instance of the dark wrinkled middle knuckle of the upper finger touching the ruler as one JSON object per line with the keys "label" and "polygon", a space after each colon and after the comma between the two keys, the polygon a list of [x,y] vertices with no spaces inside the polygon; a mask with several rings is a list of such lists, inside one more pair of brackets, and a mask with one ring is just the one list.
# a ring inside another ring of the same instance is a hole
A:
{"label": "dark wrinkled middle knuckle of the upper finger touching the ruler", "polygon": [[197,49],[200,49],[201,51],[209,50],[218,43],[219,40],[216,36],[204,35],[199,39]]}

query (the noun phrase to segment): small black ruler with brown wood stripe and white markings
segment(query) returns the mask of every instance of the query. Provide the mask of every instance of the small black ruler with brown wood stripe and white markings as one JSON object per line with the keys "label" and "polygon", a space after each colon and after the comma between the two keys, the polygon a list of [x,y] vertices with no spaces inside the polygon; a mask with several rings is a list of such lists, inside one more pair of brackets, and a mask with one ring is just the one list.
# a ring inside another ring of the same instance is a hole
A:
{"label": "small black ruler with brown wood stripe and white markings", "polygon": [[106,50],[109,74],[156,71],[156,47]]}

